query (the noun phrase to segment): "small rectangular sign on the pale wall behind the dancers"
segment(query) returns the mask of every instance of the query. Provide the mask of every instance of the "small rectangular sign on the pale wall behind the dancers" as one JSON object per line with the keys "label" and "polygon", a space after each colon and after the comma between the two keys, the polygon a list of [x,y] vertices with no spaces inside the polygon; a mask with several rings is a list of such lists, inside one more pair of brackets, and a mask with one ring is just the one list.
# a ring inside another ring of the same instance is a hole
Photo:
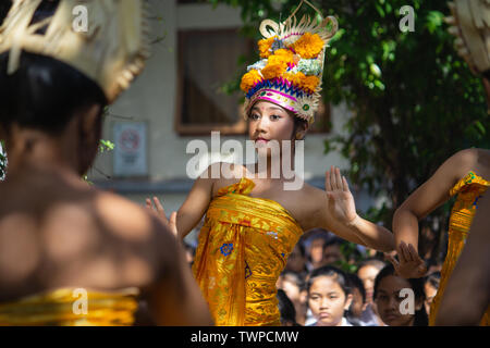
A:
{"label": "small rectangular sign on the pale wall behind the dancers", "polygon": [[147,176],[147,125],[145,122],[118,122],[114,135],[114,175]]}

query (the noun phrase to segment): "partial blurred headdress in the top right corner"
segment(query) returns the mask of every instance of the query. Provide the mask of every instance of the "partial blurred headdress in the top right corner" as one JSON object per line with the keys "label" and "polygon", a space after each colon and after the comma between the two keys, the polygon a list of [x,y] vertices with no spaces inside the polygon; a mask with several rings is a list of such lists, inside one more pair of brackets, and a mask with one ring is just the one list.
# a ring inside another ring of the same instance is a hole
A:
{"label": "partial blurred headdress in the top right corner", "polygon": [[490,70],[490,0],[455,0],[449,7],[449,32],[456,36],[460,55],[475,74]]}

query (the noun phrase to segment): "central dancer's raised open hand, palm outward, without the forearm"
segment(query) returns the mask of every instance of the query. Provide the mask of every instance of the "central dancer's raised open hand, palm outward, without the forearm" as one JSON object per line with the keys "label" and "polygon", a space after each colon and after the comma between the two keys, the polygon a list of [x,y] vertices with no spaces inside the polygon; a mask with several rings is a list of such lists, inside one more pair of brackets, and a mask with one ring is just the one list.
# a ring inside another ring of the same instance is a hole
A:
{"label": "central dancer's raised open hand, palm outward, without the forearm", "polygon": [[324,174],[324,190],[329,201],[329,213],[340,223],[352,224],[357,217],[354,197],[348,189],[347,179],[341,176],[333,165]]}

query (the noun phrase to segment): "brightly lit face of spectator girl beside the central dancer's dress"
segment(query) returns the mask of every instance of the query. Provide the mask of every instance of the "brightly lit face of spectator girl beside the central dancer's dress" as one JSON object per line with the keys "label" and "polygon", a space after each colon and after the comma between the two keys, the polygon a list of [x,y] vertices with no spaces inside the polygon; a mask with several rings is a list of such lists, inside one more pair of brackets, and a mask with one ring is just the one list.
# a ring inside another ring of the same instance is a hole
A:
{"label": "brightly lit face of spectator girl beside the central dancer's dress", "polygon": [[346,296],[339,283],[331,276],[315,277],[308,294],[308,306],[317,319],[318,326],[338,326],[344,311],[352,302],[352,295]]}

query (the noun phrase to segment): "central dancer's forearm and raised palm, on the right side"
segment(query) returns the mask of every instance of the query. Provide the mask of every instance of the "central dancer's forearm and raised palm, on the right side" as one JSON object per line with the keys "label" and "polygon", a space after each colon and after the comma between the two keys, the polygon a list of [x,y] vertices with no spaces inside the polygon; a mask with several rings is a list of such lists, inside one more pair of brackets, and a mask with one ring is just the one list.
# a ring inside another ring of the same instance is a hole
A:
{"label": "central dancer's forearm and raised palm, on the right side", "polygon": [[390,231],[357,214],[347,181],[341,176],[339,169],[332,166],[326,173],[326,190],[317,190],[317,202],[320,213],[311,221],[315,227],[320,226],[343,239],[376,250],[387,252],[394,249]]}

